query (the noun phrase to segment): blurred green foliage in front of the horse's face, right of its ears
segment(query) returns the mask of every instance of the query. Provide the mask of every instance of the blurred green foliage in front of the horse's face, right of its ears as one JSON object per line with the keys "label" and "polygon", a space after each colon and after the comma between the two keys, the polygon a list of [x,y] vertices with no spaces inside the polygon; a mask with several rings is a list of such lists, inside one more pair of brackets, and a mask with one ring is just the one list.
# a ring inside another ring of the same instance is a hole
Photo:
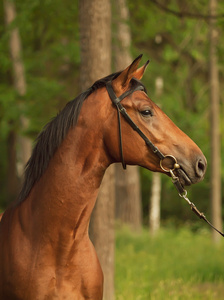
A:
{"label": "blurred green foliage in front of the horse's face, right of its ears", "polygon": [[[133,56],[139,51],[151,60],[143,81],[150,98],[158,103],[162,110],[188,134],[202,149],[208,160],[205,180],[190,187],[191,201],[209,215],[210,210],[210,116],[208,86],[208,22],[200,18],[176,17],[161,10],[151,1],[128,0],[133,38]],[[162,2],[161,2],[162,3]],[[174,11],[187,11],[208,14],[208,1],[168,1],[163,3]],[[224,5],[219,2],[218,14],[223,13]],[[223,48],[221,38],[223,18],[218,19],[219,32],[219,68],[220,83],[223,81]],[[222,50],[221,50],[222,49]],[[163,93],[156,94],[155,78],[162,77]],[[223,85],[220,85],[221,111],[223,110]],[[222,113],[220,111],[220,115]],[[224,121],[221,117],[221,133]],[[222,148],[224,146],[222,139]],[[222,153],[222,182],[224,159]],[[148,214],[151,175],[142,170],[142,195],[145,217]],[[163,176],[162,180],[162,217],[173,218],[179,215],[179,221],[189,217],[188,207],[183,206],[170,180]],[[178,221],[178,218],[176,218]],[[190,216],[193,221],[193,217]]]}

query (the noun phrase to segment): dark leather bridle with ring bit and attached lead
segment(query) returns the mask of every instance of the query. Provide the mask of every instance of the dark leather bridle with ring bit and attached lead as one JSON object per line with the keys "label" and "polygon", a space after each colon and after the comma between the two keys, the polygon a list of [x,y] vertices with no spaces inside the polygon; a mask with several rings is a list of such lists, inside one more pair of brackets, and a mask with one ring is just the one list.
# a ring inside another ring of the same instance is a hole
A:
{"label": "dark leather bridle with ring bit and attached lead", "polygon": [[[113,80],[113,79],[112,79]],[[174,174],[175,171],[177,171],[180,169],[180,165],[177,162],[177,159],[173,156],[173,155],[164,155],[148,138],[147,136],[141,131],[141,129],[135,124],[135,122],[131,119],[131,117],[128,115],[126,109],[124,108],[124,106],[121,104],[121,101],[129,96],[130,94],[136,92],[136,91],[144,91],[146,92],[145,87],[143,86],[143,84],[137,80],[136,78],[132,78],[131,83],[132,83],[132,88],[127,90],[126,92],[124,92],[121,96],[117,97],[113,87],[112,87],[112,80],[107,82],[106,84],[106,89],[107,92],[110,96],[110,99],[112,101],[112,103],[115,105],[115,107],[117,108],[117,115],[118,115],[118,130],[119,130],[119,147],[120,147],[120,154],[121,154],[121,163],[124,169],[126,169],[126,163],[124,160],[124,154],[123,154],[123,146],[122,146],[122,131],[121,131],[121,115],[124,117],[124,119],[127,121],[127,123],[133,128],[133,130],[135,130],[140,137],[145,141],[146,145],[153,151],[153,153],[155,155],[158,156],[158,158],[160,159],[160,168],[165,171],[165,172],[169,172],[172,178],[172,182],[174,184],[174,186],[176,187],[179,196],[181,198],[183,198],[184,200],[187,201],[187,203],[190,205],[191,210],[200,218],[203,219],[207,224],[209,224],[214,230],[216,230],[219,234],[221,234],[224,237],[224,233],[222,233],[221,231],[219,231],[217,228],[215,228],[205,217],[205,215],[203,213],[201,213],[197,207],[195,206],[195,204],[193,202],[191,202],[188,197],[187,197],[187,191],[184,189],[184,187],[182,186],[179,177],[176,176]],[[173,164],[173,168],[172,169],[168,169],[166,167],[164,167],[163,162],[165,158],[169,158],[172,159],[174,164]]]}

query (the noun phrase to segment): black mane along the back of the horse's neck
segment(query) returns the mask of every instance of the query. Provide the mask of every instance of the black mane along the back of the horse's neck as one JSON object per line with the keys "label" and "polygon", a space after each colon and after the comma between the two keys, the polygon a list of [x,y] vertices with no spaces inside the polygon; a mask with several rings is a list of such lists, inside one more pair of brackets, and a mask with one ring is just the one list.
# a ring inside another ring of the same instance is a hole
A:
{"label": "black mane along the back of the horse's neck", "polygon": [[84,100],[95,90],[105,87],[106,83],[116,78],[120,72],[111,74],[96,81],[92,87],[67,103],[64,109],[50,121],[36,139],[32,155],[27,162],[24,184],[18,197],[20,203],[27,198],[33,185],[47,169],[50,159],[66,137],[69,129],[77,123]]}

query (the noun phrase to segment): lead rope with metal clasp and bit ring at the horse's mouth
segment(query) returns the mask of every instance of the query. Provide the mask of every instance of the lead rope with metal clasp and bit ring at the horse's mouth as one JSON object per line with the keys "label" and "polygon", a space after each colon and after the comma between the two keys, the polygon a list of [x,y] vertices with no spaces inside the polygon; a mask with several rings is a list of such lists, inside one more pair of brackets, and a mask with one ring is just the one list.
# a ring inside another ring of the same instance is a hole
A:
{"label": "lead rope with metal clasp and bit ring at the horse's mouth", "polygon": [[222,233],[221,231],[219,231],[217,228],[215,228],[206,218],[206,216],[204,215],[204,213],[200,212],[197,207],[195,206],[195,204],[193,202],[191,202],[189,200],[189,198],[187,197],[187,191],[183,188],[182,184],[180,183],[180,180],[177,176],[175,176],[174,171],[178,170],[180,168],[180,165],[177,163],[176,158],[173,155],[166,155],[166,157],[172,158],[174,160],[174,168],[173,169],[166,169],[164,168],[164,166],[162,165],[162,161],[160,161],[160,167],[162,170],[169,172],[172,178],[172,183],[174,184],[174,186],[176,187],[179,196],[181,198],[183,198],[185,201],[187,201],[187,203],[190,205],[191,210],[196,214],[196,216],[198,216],[200,219],[203,219],[209,226],[211,226],[215,231],[217,231],[219,234],[221,234],[221,236],[224,237],[224,233]]}

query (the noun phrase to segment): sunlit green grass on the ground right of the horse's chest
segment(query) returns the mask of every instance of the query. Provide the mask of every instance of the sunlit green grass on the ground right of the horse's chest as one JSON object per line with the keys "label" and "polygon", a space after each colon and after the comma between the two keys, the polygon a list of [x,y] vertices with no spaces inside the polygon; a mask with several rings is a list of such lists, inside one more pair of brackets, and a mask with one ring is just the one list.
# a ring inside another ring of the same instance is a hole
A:
{"label": "sunlit green grass on the ground right of the horse's chest", "polygon": [[224,299],[224,241],[207,231],[117,232],[116,300]]}

